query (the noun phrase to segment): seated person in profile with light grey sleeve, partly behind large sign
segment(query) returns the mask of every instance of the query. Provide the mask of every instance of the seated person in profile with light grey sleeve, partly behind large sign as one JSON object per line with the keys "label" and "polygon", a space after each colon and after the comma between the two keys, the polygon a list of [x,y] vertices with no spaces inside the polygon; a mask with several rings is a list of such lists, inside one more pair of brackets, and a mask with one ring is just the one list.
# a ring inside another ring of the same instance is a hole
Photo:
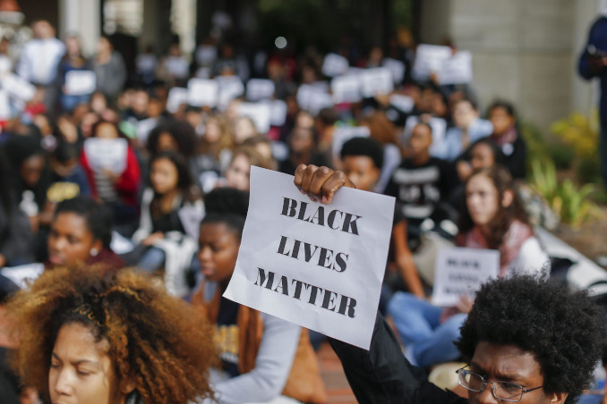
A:
{"label": "seated person in profile with light grey sleeve, partly behind large sign", "polygon": [[218,402],[326,402],[307,330],[222,296],[234,273],[248,194],[218,188],[205,204],[198,250],[203,279],[191,301],[216,326],[222,366],[211,380]]}

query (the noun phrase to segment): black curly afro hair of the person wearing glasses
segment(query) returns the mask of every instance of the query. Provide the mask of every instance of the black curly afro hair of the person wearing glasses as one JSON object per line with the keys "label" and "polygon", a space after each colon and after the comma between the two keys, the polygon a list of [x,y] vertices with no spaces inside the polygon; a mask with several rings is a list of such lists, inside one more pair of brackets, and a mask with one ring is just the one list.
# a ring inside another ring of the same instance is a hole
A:
{"label": "black curly afro hair of the person wearing glasses", "polygon": [[461,328],[466,360],[480,341],[515,345],[541,366],[543,390],[575,402],[592,381],[603,348],[601,309],[585,290],[569,291],[546,277],[517,275],[487,282]]}

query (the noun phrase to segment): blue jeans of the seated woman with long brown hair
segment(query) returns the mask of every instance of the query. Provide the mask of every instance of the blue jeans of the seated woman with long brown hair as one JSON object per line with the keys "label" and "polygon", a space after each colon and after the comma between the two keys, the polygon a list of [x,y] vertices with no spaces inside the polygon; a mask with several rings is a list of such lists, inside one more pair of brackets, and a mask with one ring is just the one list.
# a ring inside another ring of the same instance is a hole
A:
{"label": "blue jeans of the seated woman with long brown hair", "polygon": [[411,293],[398,291],[388,303],[388,314],[397,327],[400,341],[407,349],[407,357],[417,366],[432,366],[459,358],[453,344],[459,338],[459,328],[466,321],[465,314],[449,317],[440,323],[442,307],[435,307]]}

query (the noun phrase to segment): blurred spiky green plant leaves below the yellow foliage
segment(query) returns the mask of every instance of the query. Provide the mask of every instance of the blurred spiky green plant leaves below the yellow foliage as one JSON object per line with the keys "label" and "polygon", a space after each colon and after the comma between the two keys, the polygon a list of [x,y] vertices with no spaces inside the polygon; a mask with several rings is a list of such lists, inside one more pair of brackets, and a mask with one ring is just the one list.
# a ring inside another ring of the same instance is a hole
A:
{"label": "blurred spiky green plant leaves below the yellow foliage", "polygon": [[577,187],[569,179],[559,181],[556,166],[549,159],[531,162],[530,185],[546,199],[560,219],[574,229],[587,219],[603,217],[598,206],[588,198],[596,186],[588,183]]}

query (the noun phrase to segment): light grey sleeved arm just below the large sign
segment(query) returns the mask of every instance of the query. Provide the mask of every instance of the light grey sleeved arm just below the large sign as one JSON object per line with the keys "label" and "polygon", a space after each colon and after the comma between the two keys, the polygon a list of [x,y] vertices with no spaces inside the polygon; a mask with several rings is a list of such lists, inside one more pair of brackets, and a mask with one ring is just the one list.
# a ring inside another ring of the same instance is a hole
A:
{"label": "light grey sleeved arm just below the large sign", "polygon": [[266,402],[285,388],[301,335],[299,325],[278,317],[263,316],[263,337],[255,368],[214,386],[221,403]]}

